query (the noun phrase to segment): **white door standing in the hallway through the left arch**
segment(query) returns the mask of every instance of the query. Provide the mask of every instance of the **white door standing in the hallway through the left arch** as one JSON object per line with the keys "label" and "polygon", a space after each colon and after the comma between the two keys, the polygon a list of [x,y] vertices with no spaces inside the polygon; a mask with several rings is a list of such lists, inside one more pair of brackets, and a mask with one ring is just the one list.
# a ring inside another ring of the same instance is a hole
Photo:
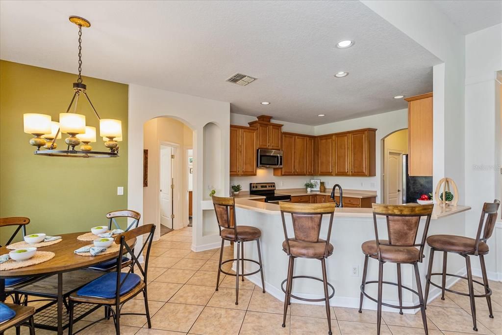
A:
{"label": "white door standing in the hallway through the left arch", "polygon": [[173,214],[173,160],[174,148],[161,146],[160,150],[160,223],[166,227],[174,227]]}

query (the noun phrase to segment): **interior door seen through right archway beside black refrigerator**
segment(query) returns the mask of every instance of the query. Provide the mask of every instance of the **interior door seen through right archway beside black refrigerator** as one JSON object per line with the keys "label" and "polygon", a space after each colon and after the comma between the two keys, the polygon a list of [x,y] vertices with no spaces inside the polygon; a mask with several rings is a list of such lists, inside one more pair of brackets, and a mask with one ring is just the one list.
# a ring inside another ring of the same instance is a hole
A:
{"label": "interior door seen through right archway beside black refrigerator", "polygon": [[389,151],[387,154],[387,171],[385,178],[386,203],[400,205],[403,202],[403,155],[400,152]]}

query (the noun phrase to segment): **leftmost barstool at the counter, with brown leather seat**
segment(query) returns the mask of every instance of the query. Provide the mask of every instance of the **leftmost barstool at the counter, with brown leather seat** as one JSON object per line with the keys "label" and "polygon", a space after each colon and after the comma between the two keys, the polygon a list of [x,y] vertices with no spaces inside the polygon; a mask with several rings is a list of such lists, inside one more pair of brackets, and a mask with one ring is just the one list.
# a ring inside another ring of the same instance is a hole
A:
{"label": "leftmost barstool at the counter, with brown leather seat", "polygon": [[[235,219],[235,199],[234,198],[223,198],[212,196],[214,211],[216,213],[216,220],[218,221],[218,228],[221,236],[221,249],[220,258],[218,263],[218,277],[216,279],[216,291],[218,291],[219,277],[220,273],[224,273],[228,276],[235,276],[235,304],[239,304],[239,276],[242,277],[244,281],[244,276],[254,275],[261,272],[262,275],[262,288],[263,293],[265,293],[265,281],[263,278],[263,265],[262,265],[262,252],[260,250],[260,237],[262,236],[262,231],[256,227],[252,226],[240,226],[237,225]],[[226,241],[233,241],[237,243],[237,258],[226,260],[222,262],[223,258],[223,246]],[[244,242],[256,241],[258,246],[258,259],[259,261],[245,259],[244,258]],[[239,251],[242,255],[239,255]],[[239,261],[242,266],[241,273],[239,274]],[[244,261],[253,262],[260,266],[257,271],[244,273]],[[221,269],[221,266],[228,262],[236,263],[235,273],[226,272]]]}

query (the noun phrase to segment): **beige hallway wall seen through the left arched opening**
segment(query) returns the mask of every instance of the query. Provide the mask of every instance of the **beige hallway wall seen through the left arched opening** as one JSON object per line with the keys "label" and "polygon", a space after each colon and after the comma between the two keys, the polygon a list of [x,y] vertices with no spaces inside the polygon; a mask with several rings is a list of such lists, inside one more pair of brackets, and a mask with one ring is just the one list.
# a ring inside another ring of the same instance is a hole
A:
{"label": "beige hallway wall seen through the left arched opening", "polygon": [[[148,186],[143,188],[143,220],[159,222],[159,145],[160,142],[177,144],[175,158],[174,228],[188,225],[187,163],[185,148],[192,147],[192,130],[172,118],[155,118],[144,125],[144,148],[148,149]],[[156,231],[160,236],[160,229]]]}

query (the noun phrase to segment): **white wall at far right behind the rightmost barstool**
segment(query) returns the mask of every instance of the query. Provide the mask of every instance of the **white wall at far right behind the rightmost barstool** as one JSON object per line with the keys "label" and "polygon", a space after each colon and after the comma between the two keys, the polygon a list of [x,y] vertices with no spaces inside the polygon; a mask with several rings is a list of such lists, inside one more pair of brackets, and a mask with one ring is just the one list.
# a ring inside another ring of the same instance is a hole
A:
{"label": "white wall at far right behind the rightmost barstool", "polygon": [[[484,202],[500,196],[496,188],[500,174],[500,120],[497,96],[500,84],[496,71],[502,69],[502,24],[465,36],[465,203],[472,207],[467,212],[465,234],[474,237]],[[491,278],[502,280],[502,259],[496,257],[493,236],[488,240],[490,253],[485,257]],[[498,270],[497,268],[498,263]],[[473,262],[479,271],[479,262]]]}

